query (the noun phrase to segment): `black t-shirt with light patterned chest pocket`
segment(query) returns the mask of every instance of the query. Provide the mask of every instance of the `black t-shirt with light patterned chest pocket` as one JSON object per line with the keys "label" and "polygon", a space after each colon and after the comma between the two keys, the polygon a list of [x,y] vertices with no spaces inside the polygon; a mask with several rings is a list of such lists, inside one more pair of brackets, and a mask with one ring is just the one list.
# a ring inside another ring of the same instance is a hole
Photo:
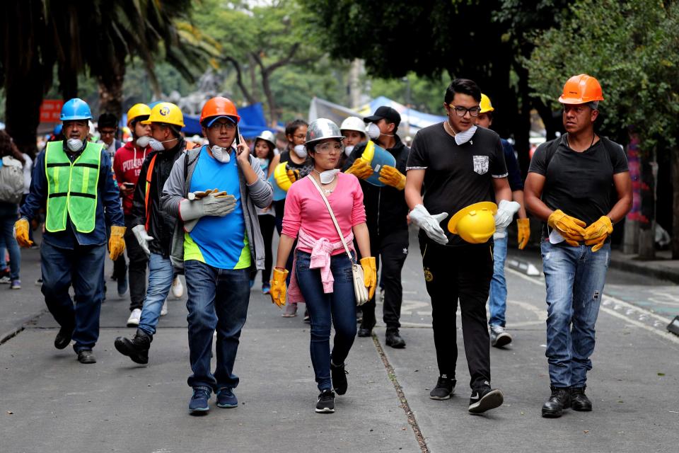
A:
{"label": "black t-shirt with light patterned chest pocket", "polygon": [[[448,221],[453,214],[477,202],[494,202],[493,178],[507,177],[498,134],[479,127],[469,142],[458,145],[442,122],[417,132],[407,169],[425,170],[423,198],[429,214],[448,212],[448,217],[441,222],[441,228],[448,236],[448,246],[469,245],[448,231]],[[421,237],[431,241],[423,235],[420,231]]]}

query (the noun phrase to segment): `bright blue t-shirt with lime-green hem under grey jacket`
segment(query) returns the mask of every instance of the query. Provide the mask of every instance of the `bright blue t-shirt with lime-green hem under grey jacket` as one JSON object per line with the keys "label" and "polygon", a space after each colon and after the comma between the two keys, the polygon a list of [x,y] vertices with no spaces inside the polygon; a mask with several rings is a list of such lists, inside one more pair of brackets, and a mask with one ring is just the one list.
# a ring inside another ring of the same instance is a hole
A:
{"label": "bright blue t-shirt with lime-green hem under grey jacket", "polygon": [[199,219],[191,232],[184,234],[184,260],[198,260],[219,269],[249,268],[250,243],[245,233],[238,164],[233,149],[231,160],[226,164],[210,156],[207,147],[200,150],[189,190],[214,188],[236,197],[236,209],[224,217]]}

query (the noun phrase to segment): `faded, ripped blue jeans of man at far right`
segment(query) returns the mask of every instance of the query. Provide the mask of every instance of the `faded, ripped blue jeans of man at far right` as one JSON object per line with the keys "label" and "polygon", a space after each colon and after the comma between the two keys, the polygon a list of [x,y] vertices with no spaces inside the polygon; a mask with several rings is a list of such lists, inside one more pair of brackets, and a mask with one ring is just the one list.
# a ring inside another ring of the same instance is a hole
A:
{"label": "faded, ripped blue jeans of man at far right", "polygon": [[594,324],[599,313],[610,243],[572,247],[543,240],[542,268],[547,286],[547,362],[555,387],[582,387],[592,369]]}

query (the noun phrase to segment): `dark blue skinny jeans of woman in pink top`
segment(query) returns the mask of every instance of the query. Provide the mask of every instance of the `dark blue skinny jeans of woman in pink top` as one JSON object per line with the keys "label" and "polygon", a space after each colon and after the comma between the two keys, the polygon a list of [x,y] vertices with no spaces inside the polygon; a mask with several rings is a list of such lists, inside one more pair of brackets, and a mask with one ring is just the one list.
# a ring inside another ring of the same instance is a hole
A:
{"label": "dark blue skinny jeans of woman in pink top", "polygon": [[310,269],[311,254],[296,251],[296,279],[311,315],[311,363],[320,391],[332,389],[330,382],[330,326],[335,326],[332,362],[342,365],[356,337],[356,297],[352,263],[345,253],[330,258],[335,284],[323,292],[320,269]]}

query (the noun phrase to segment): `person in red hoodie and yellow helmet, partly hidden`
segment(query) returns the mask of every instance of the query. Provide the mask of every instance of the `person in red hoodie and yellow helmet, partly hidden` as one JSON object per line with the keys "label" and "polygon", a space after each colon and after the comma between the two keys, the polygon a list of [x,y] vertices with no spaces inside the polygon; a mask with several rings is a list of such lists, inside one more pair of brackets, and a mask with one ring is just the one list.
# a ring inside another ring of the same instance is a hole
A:
{"label": "person in red hoodie and yellow helmet, partly hidden", "polygon": [[122,197],[122,210],[125,216],[125,243],[129,258],[129,319],[127,327],[139,326],[141,306],[146,295],[146,263],[149,258],[139,246],[132,232],[132,197],[137,186],[141,164],[146,154],[151,152],[151,124],[146,120],[151,115],[151,108],[146,104],[135,104],[127,110],[127,127],[132,131],[132,141],[124,144],[115,152],[113,171]]}

